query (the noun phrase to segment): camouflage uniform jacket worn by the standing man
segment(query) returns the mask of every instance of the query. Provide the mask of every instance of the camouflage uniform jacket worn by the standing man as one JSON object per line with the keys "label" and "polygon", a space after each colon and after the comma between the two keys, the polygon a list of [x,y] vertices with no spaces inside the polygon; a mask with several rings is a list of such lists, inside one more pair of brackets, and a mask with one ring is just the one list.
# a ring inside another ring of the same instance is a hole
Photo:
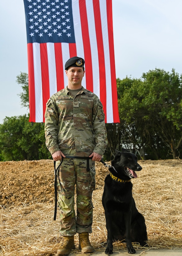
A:
{"label": "camouflage uniform jacket worn by the standing man", "polygon": [[66,156],[103,155],[107,132],[103,106],[98,96],[83,86],[73,98],[67,87],[50,97],[45,111],[46,146],[51,154]]}

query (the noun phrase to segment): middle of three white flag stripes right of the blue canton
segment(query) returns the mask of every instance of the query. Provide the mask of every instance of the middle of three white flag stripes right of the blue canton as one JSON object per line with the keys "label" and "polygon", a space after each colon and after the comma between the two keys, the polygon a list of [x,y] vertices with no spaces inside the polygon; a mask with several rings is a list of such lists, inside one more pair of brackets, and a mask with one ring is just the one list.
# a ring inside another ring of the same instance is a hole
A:
{"label": "middle of three white flag stripes right of the blue canton", "polygon": [[93,2],[92,1],[86,0],[86,9],[87,9],[90,48],[91,48],[91,56],[92,56],[93,93],[95,93],[100,98],[98,48],[97,48],[97,38],[96,38],[96,31],[95,31],[95,22],[94,22],[94,12],[93,12]]}

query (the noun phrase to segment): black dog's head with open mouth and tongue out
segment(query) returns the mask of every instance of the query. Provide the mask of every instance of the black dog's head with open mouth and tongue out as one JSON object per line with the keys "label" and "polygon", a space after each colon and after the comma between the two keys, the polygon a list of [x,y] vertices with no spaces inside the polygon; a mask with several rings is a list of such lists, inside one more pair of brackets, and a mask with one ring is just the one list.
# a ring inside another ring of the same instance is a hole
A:
{"label": "black dog's head with open mouth and tongue out", "polygon": [[112,166],[116,169],[118,175],[123,179],[137,178],[135,171],[141,171],[142,167],[137,163],[137,157],[133,153],[116,151],[114,159],[111,161]]}

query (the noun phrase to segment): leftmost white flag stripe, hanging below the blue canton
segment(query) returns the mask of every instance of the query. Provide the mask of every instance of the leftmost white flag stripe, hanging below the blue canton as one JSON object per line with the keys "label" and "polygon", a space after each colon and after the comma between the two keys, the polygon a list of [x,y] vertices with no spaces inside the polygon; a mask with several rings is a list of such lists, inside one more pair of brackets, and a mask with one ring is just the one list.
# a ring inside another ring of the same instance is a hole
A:
{"label": "leftmost white flag stripe, hanging below the blue canton", "polygon": [[42,71],[40,44],[33,43],[34,79],[35,79],[35,122],[43,121]]}

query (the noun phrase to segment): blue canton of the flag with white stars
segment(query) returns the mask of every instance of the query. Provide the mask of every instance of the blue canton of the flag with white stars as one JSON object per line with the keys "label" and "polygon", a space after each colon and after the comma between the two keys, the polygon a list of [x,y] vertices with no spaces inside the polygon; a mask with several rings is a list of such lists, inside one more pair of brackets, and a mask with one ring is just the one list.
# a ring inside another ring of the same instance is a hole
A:
{"label": "blue canton of the flag with white stars", "polygon": [[27,43],[75,43],[71,0],[24,0]]}

